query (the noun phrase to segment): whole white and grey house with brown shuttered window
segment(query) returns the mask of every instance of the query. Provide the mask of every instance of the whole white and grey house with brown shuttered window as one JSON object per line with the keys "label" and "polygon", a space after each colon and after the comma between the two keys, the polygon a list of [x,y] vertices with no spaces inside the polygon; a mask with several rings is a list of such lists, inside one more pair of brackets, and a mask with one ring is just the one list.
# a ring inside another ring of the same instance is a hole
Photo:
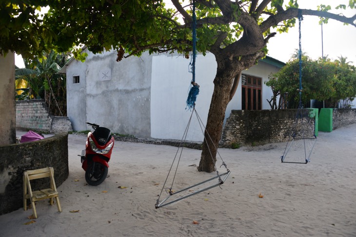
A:
{"label": "whole white and grey house with brown shuttered window", "polygon": [[[116,61],[117,52],[94,55],[87,49],[85,62],[71,59],[59,73],[67,75],[67,114],[73,129],[87,130],[86,121],[112,132],[157,139],[182,139],[191,116],[186,109],[192,73],[183,55],[149,55]],[[270,109],[272,91],[264,85],[270,73],[282,66],[266,57],[242,73],[237,92],[226,109]],[[198,55],[196,101],[199,117],[206,123],[217,63],[211,53]],[[186,140],[202,141],[198,121],[192,120]]]}

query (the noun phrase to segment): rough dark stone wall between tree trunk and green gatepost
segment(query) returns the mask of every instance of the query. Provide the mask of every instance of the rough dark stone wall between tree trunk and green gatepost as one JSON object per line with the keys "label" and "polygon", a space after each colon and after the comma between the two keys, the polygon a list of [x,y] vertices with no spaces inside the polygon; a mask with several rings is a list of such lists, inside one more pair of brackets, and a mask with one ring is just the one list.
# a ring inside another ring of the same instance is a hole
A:
{"label": "rough dark stone wall between tree trunk and green gatepost", "polygon": [[[311,109],[311,127],[317,123],[317,109]],[[297,109],[232,110],[222,131],[223,145],[262,145],[285,142],[296,119]],[[316,125],[317,128],[317,125]],[[317,129],[315,130],[317,135]]]}

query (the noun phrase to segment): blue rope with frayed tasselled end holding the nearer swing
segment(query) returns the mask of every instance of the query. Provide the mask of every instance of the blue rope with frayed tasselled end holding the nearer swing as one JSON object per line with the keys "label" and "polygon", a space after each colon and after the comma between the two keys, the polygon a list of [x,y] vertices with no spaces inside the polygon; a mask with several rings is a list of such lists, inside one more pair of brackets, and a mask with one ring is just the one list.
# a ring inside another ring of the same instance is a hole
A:
{"label": "blue rope with frayed tasselled end holding the nearer swing", "polygon": [[192,66],[192,74],[193,74],[193,79],[192,79],[192,87],[190,88],[188,98],[187,98],[187,107],[185,109],[193,109],[195,107],[195,102],[197,100],[197,96],[199,94],[199,85],[195,82],[195,62],[196,62],[196,57],[197,57],[197,52],[196,52],[196,45],[197,45],[197,17],[195,14],[195,0],[193,0],[193,24],[192,24],[192,37],[193,37],[193,63],[190,63],[189,65]]}

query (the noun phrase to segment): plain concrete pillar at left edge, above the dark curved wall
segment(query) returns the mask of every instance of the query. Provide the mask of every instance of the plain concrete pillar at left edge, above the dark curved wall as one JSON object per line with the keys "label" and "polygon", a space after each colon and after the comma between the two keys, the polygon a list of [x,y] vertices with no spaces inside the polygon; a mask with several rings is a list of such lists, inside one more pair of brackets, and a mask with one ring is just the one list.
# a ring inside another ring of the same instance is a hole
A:
{"label": "plain concrete pillar at left edge, above the dark curved wall", "polygon": [[15,54],[0,55],[0,146],[16,142]]}

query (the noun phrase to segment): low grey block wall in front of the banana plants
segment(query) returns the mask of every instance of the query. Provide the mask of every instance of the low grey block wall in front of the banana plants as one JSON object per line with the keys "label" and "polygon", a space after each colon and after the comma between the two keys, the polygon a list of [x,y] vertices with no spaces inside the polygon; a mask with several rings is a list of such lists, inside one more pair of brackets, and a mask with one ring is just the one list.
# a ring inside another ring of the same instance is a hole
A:
{"label": "low grey block wall in front of the banana plants", "polygon": [[42,99],[16,101],[16,128],[51,133],[73,131],[69,118],[52,116]]}

